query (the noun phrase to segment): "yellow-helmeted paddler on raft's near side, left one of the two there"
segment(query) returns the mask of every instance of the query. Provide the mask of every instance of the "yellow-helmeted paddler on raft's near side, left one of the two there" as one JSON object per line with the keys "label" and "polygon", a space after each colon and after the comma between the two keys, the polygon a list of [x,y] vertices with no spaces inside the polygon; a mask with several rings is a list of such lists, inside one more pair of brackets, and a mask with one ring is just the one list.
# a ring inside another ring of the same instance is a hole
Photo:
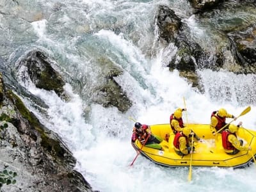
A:
{"label": "yellow-helmeted paddler on raft's near side, left one of the two there", "polygon": [[175,134],[173,147],[179,156],[185,156],[192,152],[192,141],[189,140],[192,134],[194,134],[194,132],[192,132],[189,127],[184,127],[181,132],[177,132],[177,134]]}

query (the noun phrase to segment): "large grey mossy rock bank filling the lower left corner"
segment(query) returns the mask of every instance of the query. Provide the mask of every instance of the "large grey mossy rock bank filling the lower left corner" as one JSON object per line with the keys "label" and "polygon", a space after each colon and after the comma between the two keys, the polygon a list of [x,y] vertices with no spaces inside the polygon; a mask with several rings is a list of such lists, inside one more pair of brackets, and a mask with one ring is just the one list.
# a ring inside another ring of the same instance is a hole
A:
{"label": "large grey mossy rock bank filling the lower left corner", "polygon": [[0,171],[17,173],[17,182],[2,191],[92,191],[74,170],[72,153],[4,86],[2,74],[0,125]]}

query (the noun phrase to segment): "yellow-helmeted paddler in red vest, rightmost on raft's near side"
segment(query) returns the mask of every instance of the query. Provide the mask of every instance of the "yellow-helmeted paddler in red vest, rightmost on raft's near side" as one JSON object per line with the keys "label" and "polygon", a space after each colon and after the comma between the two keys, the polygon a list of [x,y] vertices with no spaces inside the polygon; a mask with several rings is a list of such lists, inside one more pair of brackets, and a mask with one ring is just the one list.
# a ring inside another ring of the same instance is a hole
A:
{"label": "yellow-helmeted paddler in red vest, rightmost on raft's near side", "polygon": [[242,122],[239,122],[238,125],[230,124],[228,129],[221,133],[222,146],[229,155],[235,155],[243,150],[252,150],[250,146],[243,146],[243,140],[237,139],[236,132],[241,125]]}

